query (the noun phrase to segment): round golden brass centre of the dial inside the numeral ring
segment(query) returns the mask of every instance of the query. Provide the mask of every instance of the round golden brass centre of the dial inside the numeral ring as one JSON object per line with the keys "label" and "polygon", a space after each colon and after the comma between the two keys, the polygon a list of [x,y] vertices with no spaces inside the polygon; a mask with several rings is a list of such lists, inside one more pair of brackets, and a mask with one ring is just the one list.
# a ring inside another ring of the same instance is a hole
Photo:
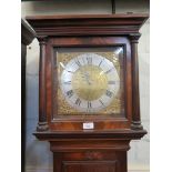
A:
{"label": "round golden brass centre of the dial inside the numeral ring", "polygon": [[107,74],[100,67],[80,67],[72,77],[72,88],[79,98],[88,101],[97,100],[108,88]]}

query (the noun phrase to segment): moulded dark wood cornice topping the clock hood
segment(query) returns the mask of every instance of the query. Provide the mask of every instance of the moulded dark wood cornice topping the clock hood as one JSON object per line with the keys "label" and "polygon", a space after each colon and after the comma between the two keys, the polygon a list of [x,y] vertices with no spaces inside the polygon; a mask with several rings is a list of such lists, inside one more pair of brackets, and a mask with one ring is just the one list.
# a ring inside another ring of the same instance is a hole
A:
{"label": "moulded dark wood cornice topping the clock hood", "polygon": [[138,33],[148,14],[34,16],[27,21],[37,36],[113,36]]}

